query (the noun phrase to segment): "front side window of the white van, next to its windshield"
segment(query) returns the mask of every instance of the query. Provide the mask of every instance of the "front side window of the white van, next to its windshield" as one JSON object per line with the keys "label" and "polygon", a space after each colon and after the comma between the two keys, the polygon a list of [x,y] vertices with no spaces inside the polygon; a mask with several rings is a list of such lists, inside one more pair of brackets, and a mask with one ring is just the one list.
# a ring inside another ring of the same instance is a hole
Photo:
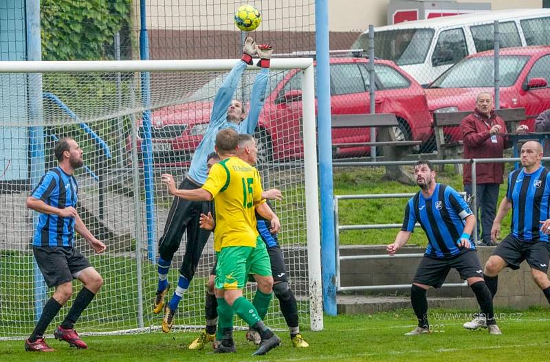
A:
{"label": "front side window of the white van, next to its windshield", "polygon": [[467,55],[466,39],[461,28],[445,30],[439,34],[432,54],[432,65],[449,65],[459,62]]}

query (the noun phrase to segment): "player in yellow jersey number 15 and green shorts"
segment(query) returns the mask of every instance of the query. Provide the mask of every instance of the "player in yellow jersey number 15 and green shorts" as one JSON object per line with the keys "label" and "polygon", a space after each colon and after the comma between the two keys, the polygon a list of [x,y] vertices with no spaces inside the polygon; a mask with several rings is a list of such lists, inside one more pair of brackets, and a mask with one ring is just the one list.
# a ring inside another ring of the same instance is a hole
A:
{"label": "player in yellow jersey number 15 and green shorts", "polygon": [[[203,201],[214,198],[218,215],[214,250],[218,253],[215,286],[220,325],[224,325],[224,316],[232,317],[233,312],[239,315],[259,332],[262,341],[253,355],[261,355],[278,346],[281,339],[263,324],[256,307],[243,297],[249,274],[254,275],[259,285],[268,287],[269,296],[273,286],[270,257],[256,231],[254,210],[270,220],[273,232],[278,232],[281,224],[261,198],[258,170],[236,157],[238,144],[239,135],[235,131],[229,128],[219,131],[215,149],[222,161],[212,166],[201,188],[178,190],[170,174],[162,174],[162,182],[166,183],[171,195],[181,199]],[[269,305],[270,301],[271,297],[264,302]],[[232,322],[228,324],[232,325]],[[232,328],[223,328],[223,339],[215,352],[234,351]]]}

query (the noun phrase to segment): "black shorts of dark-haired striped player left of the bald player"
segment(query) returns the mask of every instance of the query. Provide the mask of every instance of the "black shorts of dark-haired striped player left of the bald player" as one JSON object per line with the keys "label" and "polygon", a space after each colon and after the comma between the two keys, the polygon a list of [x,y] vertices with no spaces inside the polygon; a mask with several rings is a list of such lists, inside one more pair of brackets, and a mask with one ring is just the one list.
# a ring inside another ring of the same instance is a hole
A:
{"label": "black shorts of dark-haired striped player left of the bald player", "polygon": [[413,282],[439,288],[445,282],[445,278],[447,278],[451,268],[456,269],[462,279],[472,277],[483,278],[483,268],[476,252],[467,250],[459,253],[457,256],[445,259],[424,256],[420,260]]}

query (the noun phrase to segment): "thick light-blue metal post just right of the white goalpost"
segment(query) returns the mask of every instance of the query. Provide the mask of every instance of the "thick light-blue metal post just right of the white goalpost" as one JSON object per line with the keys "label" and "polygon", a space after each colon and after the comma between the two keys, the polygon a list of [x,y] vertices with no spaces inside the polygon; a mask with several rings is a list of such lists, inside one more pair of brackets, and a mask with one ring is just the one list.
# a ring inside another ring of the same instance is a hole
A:
{"label": "thick light-blue metal post just right of the white goalpost", "polygon": [[328,0],[316,0],[319,181],[321,193],[322,299],[325,313],[336,315],[336,243],[332,183],[331,87]]}

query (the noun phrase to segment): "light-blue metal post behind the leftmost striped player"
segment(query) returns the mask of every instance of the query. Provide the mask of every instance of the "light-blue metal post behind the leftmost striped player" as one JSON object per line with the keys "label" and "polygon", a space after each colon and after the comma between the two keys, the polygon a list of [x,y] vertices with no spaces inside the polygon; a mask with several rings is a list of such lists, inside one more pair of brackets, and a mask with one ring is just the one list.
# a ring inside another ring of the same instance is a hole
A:
{"label": "light-blue metal post behind the leftmost striped player", "polygon": [[[42,45],[40,38],[40,0],[26,2],[26,33],[27,33],[27,60],[42,60]],[[29,123],[43,124],[42,109],[42,76],[39,73],[31,73],[28,76],[28,117]],[[34,188],[40,181],[45,170],[44,157],[44,127],[29,127],[29,148],[30,148],[30,181]],[[38,212],[32,216],[32,225],[36,229],[39,222]],[[42,315],[44,302],[46,300],[46,284],[42,273],[32,259],[32,274],[34,285],[34,320],[38,321]]]}

